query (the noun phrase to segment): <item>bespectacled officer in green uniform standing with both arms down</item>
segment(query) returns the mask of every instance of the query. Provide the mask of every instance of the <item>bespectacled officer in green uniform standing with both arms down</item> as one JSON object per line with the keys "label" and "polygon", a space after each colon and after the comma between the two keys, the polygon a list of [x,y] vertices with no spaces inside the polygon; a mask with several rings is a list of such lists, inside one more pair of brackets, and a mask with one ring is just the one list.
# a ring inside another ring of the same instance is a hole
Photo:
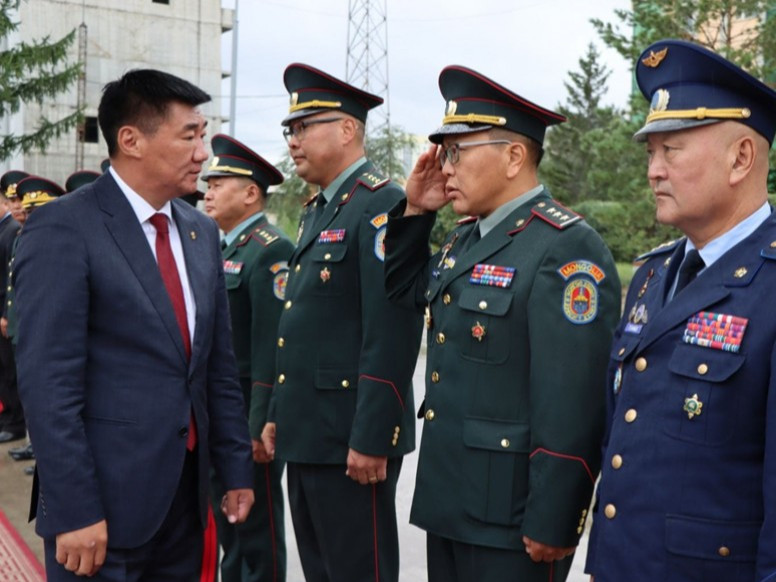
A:
{"label": "bespectacled officer in green uniform standing with both arms down", "polygon": [[287,462],[308,582],[399,575],[396,482],[415,447],[412,373],[421,320],[391,305],[386,213],[404,192],[365,157],[382,99],[307,65],[284,75],[297,174],[320,192],[299,224],[278,328],[267,452]]}

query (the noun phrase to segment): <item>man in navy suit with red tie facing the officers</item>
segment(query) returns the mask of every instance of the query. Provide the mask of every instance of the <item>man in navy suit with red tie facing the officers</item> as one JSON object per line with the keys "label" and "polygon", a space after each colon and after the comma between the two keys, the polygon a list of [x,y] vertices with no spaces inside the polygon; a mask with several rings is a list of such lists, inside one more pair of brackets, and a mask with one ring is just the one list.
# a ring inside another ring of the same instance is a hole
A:
{"label": "man in navy suit with red tie facing the officers", "polygon": [[196,579],[210,462],[231,522],[253,503],[218,229],[175,200],[208,157],[209,99],[154,70],[106,85],[110,170],[20,238],[19,388],[50,582]]}

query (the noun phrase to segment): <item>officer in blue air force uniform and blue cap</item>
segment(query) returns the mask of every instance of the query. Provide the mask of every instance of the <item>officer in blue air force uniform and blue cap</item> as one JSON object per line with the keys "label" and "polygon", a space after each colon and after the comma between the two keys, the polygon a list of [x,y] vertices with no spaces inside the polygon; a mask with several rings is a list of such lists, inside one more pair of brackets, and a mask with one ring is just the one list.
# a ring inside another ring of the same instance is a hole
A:
{"label": "officer in blue air force uniform and blue cap", "polygon": [[698,45],[636,63],[657,220],[609,363],[595,582],[776,580],[776,92]]}

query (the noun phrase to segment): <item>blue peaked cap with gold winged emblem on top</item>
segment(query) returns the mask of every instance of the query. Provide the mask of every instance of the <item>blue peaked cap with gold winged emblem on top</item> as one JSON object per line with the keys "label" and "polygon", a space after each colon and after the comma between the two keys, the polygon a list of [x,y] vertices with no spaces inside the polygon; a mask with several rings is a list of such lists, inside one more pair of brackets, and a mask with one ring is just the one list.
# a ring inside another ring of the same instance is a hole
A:
{"label": "blue peaked cap with gold winged emblem on top", "polygon": [[646,134],[723,120],[743,123],[773,143],[776,91],[718,54],[683,40],[661,40],[641,54],[636,81],[650,101]]}

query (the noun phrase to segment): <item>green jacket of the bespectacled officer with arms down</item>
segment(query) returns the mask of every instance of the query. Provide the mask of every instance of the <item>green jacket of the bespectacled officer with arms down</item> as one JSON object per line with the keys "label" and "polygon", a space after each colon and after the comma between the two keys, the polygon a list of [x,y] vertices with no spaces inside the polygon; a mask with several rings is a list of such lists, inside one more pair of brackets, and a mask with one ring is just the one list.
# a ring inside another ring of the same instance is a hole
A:
{"label": "green jacket of the bespectacled officer with arms down", "polygon": [[349,448],[398,457],[415,447],[422,321],[391,304],[383,282],[386,214],[402,198],[365,162],[315,224],[315,204],[302,214],[270,405],[280,459],[344,465]]}

